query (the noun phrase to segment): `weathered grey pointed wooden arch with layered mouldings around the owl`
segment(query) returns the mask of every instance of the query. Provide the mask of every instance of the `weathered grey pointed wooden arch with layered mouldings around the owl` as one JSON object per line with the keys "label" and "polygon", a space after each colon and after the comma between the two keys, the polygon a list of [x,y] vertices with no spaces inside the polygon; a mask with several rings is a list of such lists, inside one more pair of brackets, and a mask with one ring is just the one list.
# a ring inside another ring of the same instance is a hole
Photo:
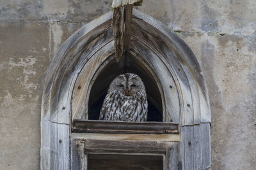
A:
{"label": "weathered grey pointed wooden arch with layered mouldings around the owl", "polygon": [[[42,97],[41,169],[70,169],[72,121],[88,117],[93,82],[114,59],[111,18],[109,12],[81,27],[52,60]],[[164,122],[179,124],[182,169],[209,169],[211,113],[195,55],[161,22],[137,10],[131,28],[128,57],[156,82]]]}

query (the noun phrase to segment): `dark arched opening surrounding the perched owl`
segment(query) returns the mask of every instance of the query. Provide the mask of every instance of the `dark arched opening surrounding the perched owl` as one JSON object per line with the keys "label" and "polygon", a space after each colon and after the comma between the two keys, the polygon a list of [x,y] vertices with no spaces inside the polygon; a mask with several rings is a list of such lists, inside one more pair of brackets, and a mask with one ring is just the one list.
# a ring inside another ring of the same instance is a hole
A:
{"label": "dark arched opening surrounding the perched owl", "polygon": [[119,62],[111,60],[97,76],[90,93],[88,119],[99,120],[100,108],[108,92],[109,84],[116,76],[124,73],[138,74],[145,85],[148,101],[147,121],[163,122],[163,106],[157,84],[147,69],[142,64],[139,66],[138,61],[131,55],[126,59],[121,57]]}

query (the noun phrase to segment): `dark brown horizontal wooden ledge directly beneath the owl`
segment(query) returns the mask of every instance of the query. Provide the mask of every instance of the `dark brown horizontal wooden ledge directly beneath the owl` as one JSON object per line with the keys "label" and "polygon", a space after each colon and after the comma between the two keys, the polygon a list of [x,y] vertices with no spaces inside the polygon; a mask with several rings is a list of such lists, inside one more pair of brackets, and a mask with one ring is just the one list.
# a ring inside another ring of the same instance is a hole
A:
{"label": "dark brown horizontal wooden ledge directly beneath the owl", "polygon": [[102,120],[74,120],[74,127],[81,127],[85,132],[132,132],[164,133],[178,132],[179,124],[166,122],[106,122]]}

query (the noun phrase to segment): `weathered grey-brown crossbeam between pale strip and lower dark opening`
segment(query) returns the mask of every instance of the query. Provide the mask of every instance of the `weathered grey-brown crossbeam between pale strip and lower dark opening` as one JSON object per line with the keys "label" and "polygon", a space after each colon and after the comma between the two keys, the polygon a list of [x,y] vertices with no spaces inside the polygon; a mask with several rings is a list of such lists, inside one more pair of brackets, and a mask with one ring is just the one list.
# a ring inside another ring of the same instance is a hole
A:
{"label": "weathered grey-brown crossbeam between pale strip and lower dark opening", "polygon": [[86,153],[166,153],[165,141],[85,140]]}

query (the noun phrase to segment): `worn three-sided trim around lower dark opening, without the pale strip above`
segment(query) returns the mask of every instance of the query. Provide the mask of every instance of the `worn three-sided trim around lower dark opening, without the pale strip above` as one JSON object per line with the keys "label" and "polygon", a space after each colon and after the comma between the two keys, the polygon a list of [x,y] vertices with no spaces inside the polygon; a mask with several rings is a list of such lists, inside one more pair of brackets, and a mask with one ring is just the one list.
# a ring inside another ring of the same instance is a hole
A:
{"label": "worn three-sided trim around lower dark opening, without the pale strip above", "polygon": [[179,166],[179,142],[108,141],[73,137],[72,169],[86,169],[88,154],[161,155],[164,170],[176,170]]}

